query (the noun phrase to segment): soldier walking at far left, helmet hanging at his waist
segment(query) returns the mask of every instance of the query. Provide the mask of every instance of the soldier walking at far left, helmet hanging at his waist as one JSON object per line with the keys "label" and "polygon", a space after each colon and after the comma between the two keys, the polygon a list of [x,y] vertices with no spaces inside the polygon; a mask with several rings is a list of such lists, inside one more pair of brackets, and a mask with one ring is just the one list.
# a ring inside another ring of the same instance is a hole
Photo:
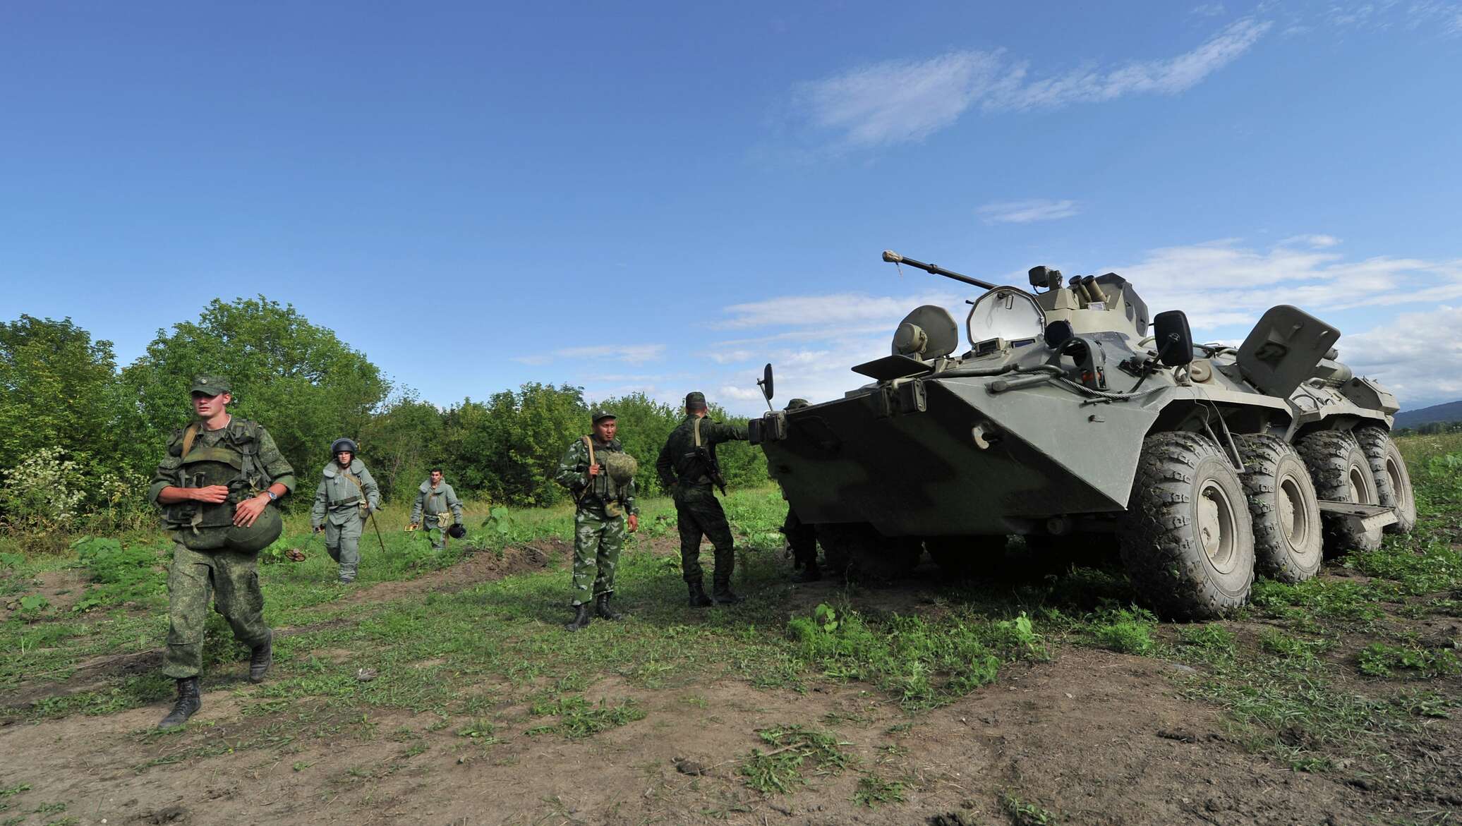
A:
{"label": "soldier walking at far left, helmet hanging at his waist", "polygon": [[199,376],[192,392],[196,420],[173,431],[148,488],[174,538],[162,672],[177,680],[177,703],[158,728],[183,725],[203,706],[197,677],[211,598],[250,648],[249,680],[269,671],[273,634],[254,560],[282,528],[273,503],[294,490],[294,469],[263,425],[228,415],[227,379]]}

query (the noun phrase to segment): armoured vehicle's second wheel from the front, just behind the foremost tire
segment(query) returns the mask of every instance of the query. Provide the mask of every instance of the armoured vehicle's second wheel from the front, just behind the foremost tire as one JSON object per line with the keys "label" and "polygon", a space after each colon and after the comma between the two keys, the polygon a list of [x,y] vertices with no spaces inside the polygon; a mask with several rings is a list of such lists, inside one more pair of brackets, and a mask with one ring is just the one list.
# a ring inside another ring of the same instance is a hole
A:
{"label": "armoured vehicle's second wheel from the front, just behind the foremost tire", "polygon": [[1310,579],[1325,561],[1325,535],[1304,459],[1273,436],[1240,436],[1238,452],[1254,525],[1254,572],[1289,583]]}

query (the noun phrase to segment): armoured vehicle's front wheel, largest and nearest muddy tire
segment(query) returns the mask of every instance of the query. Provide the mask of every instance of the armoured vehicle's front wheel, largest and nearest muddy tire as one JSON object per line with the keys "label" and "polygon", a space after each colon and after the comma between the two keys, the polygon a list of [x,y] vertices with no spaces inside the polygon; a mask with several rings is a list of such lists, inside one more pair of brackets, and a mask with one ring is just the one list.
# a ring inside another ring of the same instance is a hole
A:
{"label": "armoured vehicle's front wheel, largest and nearest muddy tire", "polygon": [[1206,436],[1143,442],[1118,537],[1139,596],[1165,617],[1208,620],[1249,599],[1254,532],[1244,485]]}

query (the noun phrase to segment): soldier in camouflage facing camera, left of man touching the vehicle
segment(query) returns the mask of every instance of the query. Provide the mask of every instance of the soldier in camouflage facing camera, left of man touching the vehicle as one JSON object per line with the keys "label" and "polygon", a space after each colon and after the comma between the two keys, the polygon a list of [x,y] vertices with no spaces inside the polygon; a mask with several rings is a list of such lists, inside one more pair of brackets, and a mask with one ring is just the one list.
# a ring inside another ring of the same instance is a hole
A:
{"label": "soldier in camouflage facing camera, left of man touching the vehicle", "polygon": [[614,594],[614,570],[624,547],[626,515],[630,532],[639,529],[633,474],[616,478],[608,471],[608,455],[624,453],[624,447],[614,439],[618,423],[605,409],[594,411],[592,420],[594,434],[569,446],[553,477],[577,501],[573,513],[573,620],[564,626],[570,632],[589,624],[591,601],[595,604],[594,613],[601,618],[623,618],[610,608],[610,595]]}

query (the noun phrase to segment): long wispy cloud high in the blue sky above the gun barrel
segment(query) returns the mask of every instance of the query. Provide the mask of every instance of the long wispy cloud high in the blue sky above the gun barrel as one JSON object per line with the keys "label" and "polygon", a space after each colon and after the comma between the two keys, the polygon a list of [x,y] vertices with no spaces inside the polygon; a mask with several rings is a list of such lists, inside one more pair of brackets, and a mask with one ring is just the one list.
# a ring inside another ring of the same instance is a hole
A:
{"label": "long wispy cloud high in the blue sky above the gun barrel", "polygon": [[1035,77],[1028,61],[1003,50],[950,51],[925,60],[889,60],[800,83],[795,107],[842,148],[921,140],[971,107],[984,111],[1058,108],[1124,95],[1175,95],[1249,51],[1270,23],[1244,18],[1197,48],[1170,58]]}

